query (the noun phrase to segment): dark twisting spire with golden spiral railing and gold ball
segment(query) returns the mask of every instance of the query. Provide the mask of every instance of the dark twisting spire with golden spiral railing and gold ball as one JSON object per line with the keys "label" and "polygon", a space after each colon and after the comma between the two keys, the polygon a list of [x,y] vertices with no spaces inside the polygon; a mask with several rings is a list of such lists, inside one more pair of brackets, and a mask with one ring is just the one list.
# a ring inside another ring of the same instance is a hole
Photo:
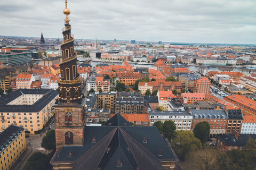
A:
{"label": "dark twisting spire with golden spiral railing and gold ball", "polygon": [[59,84],[60,103],[78,103],[82,99],[82,80],[77,72],[77,52],[74,50],[74,36],[71,34],[69,24],[69,9],[63,10],[66,15],[65,28],[62,29],[63,41],[61,42],[62,63],[60,64],[61,78]]}

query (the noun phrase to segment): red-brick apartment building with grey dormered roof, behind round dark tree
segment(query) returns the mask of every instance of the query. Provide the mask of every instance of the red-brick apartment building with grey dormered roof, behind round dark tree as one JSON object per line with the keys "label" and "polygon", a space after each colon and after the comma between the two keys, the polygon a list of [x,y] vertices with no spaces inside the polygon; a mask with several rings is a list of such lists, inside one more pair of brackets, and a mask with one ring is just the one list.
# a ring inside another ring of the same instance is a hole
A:
{"label": "red-brick apartment building with grey dormered roof, behind round dark tree", "polygon": [[193,124],[191,131],[195,128],[197,123],[208,122],[211,126],[210,134],[226,133],[228,116],[222,110],[191,110],[193,115]]}

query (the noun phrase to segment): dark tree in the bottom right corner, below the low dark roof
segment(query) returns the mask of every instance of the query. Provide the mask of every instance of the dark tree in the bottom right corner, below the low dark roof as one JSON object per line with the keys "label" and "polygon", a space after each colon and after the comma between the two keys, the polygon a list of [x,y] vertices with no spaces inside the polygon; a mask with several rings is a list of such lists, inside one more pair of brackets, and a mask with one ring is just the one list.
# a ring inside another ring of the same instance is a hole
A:
{"label": "dark tree in the bottom right corner, below the low dark roof", "polygon": [[253,169],[251,159],[241,150],[233,149],[225,154],[219,154],[217,160],[221,170]]}

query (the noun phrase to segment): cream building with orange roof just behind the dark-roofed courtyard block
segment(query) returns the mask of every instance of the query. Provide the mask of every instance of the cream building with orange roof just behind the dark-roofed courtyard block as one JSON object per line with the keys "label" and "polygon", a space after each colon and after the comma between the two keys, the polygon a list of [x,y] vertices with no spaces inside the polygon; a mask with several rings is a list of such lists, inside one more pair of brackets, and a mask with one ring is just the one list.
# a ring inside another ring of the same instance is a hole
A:
{"label": "cream building with orange roof just behind the dark-roofed courtyard block", "polygon": [[16,87],[17,89],[30,89],[33,81],[35,81],[35,78],[32,74],[18,74]]}

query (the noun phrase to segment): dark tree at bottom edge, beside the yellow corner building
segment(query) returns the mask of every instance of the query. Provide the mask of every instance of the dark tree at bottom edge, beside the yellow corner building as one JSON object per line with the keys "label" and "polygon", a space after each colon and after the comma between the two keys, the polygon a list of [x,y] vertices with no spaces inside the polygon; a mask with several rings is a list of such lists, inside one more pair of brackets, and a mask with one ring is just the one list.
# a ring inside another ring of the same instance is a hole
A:
{"label": "dark tree at bottom edge, beside the yellow corner building", "polygon": [[50,170],[51,169],[51,157],[42,154],[41,152],[35,152],[32,154],[22,170]]}

